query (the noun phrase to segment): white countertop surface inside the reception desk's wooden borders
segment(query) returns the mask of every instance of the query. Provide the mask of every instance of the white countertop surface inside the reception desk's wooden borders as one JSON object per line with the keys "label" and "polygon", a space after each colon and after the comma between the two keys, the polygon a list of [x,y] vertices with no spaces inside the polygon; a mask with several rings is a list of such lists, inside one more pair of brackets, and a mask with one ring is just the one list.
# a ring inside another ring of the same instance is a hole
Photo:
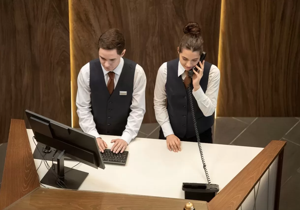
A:
{"label": "white countertop surface inside the reception desk's wooden borders", "polygon": [[[32,152],[33,132],[27,129]],[[103,136],[108,148],[115,136]],[[166,140],[135,138],[126,148],[125,166],[106,164],[95,169],[78,164],[74,169],[89,173],[79,190],[124,193],[184,199],[183,182],[206,183],[206,177],[197,143],[182,142],[181,152],[170,152]],[[220,190],[226,186],[263,148],[202,143],[208,174],[212,184]],[[64,161],[73,167],[77,161]],[[35,159],[36,168],[41,160]],[[48,161],[51,166],[52,161]],[[48,170],[44,163],[38,170],[40,180]],[[50,187],[50,186],[46,186]]]}

